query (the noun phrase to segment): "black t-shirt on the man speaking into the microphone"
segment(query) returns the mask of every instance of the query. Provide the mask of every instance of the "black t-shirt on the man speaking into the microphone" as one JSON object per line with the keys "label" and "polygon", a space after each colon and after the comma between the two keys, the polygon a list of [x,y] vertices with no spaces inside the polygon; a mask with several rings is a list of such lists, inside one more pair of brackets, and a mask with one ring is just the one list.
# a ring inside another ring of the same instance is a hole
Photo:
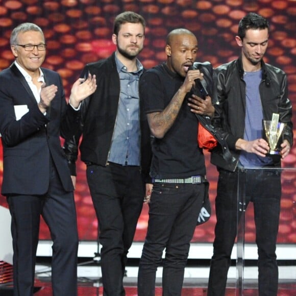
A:
{"label": "black t-shirt on the man speaking into the microphone", "polygon": [[[146,114],[161,112],[183,84],[184,78],[165,64],[147,70],[140,80]],[[198,119],[187,106],[187,96],[172,127],[162,139],[153,138],[150,175],[156,179],[206,175],[205,159],[197,142]]]}

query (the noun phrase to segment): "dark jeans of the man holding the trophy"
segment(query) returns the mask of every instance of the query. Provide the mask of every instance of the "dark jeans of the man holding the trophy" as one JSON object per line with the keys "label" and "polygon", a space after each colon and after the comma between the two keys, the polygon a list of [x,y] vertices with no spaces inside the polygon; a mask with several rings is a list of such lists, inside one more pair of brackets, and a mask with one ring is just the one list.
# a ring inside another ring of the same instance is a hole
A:
{"label": "dark jeans of the man holding the trophy", "polygon": [[[279,171],[246,170],[245,202],[254,204],[258,247],[259,295],[276,296],[278,266],[276,242],[279,228],[281,177]],[[216,196],[214,254],[208,296],[225,295],[231,252],[237,234],[238,172],[220,170]]]}

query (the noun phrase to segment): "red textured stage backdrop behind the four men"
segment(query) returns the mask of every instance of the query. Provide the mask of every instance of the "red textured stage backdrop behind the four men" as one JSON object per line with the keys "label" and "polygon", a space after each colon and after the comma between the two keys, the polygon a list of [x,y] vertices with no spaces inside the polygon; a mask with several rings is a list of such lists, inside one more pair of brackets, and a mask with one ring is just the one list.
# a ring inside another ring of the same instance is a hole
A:
{"label": "red textured stage backdrop behind the four men", "polygon": [[[213,66],[237,57],[235,42],[237,24],[246,13],[254,11],[268,18],[271,28],[266,62],[288,74],[289,98],[296,106],[296,2],[293,0],[0,0],[0,70],[13,62],[9,38],[11,30],[21,22],[34,22],[44,31],[47,57],[43,66],[58,71],[63,79],[66,95],[79,77],[85,63],[109,56],[114,51],[111,42],[114,17],[125,10],[140,13],[146,19],[145,48],[140,55],[144,67],[151,68],[165,61],[166,35],[176,28],[191,30],[199,41],[199,61]],[[294,109],[293,108],[293,109]],[[295,121],[295,120],[294,120]],[[0,183],[3,175],[2,149],[0,153]],[[210,181],[212,217],[197,227],[194,242],[212,242],[214,238],[217,172],[206,153],[207,176]],[[296,151],[285,159],[284,167],[295,167]],[[78,162],[78,181],[75,192],[80,240],[96,240],[97,220],[85,177],[85,165]],[[292,180],[289,184],[295,183]],[[294,219],[294,186],[289,185],[282,198],[280,243],[296,243]],[[7,206],[4,197],[0,204]],[[252,220],[252,205],[248,219]],[[148,207],[144,205],[135,241],[143,241],[146,233]],[[40,239],[50,239],[42,221]],[[254,223],[246,224],[246,242],[254,241]]]}

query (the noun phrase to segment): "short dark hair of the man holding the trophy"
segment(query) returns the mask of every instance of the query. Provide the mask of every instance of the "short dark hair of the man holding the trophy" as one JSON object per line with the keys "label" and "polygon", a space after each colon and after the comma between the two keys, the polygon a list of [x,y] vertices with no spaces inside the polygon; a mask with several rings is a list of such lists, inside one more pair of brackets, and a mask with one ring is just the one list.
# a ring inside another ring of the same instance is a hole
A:
{"label": "short dark hair of the man holding the trophy", "polygon": [[269,33],[269,24],[266,18],[262,15],[255,12],[250,12],[245,15],[238,24],[238,37],[242,40],[245,37],[245,31],[248,29],[259,29],[264,30],[268,29]]}

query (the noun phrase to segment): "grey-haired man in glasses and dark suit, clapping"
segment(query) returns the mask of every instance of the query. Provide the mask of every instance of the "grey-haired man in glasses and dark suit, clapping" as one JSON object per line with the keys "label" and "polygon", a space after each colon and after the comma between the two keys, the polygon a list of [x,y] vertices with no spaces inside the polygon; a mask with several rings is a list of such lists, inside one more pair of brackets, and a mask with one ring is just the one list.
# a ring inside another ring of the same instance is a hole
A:
{"label": "grey-haired man in glasses and dark suit, clapping", "polygon": [[95,90],[95,77],[75,82],[69,106],[58,73],[41,68],[42,30],[22,23],[10,44],[15,62],[0,73],[0,133],[2,194],[12,216],[14,295],[33,295],[40,215],[53,239],[54,295],[77,295],[76,210],[60,135],[75,130],[79,104]]}

